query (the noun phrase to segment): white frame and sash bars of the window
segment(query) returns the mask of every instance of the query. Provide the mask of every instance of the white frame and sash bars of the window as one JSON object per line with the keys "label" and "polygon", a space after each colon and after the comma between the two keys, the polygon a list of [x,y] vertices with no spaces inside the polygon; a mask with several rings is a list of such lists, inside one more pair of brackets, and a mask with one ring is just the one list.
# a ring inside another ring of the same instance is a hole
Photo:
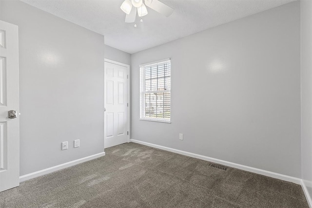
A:
{"label": "white frame and sash bars of the window", "polygon": [[[156,91],[145,91],[145,85],[146,85],[146,81],[145,81],[145,67],[147,66],[152,66],[152,65],[159,65],[163,62],[170,62],[170,89],[169,90],[156,90]],[[143,121],[155,121],[155,122],[162,122],[162,123],[171,123],[171,59],[170,58],[166,58],[166,59],[162,59],[162,60],[158,60],[158,61],[153,61],[150,63],[144,63],[144,64],[140,64],[139,65],[139,74],[140,74],[140,113],[139,113],[139,120],[143,120]],[[165,118],[150,118],[150,117],[145,117],[145,94],[152,94],[152,93],[170,93],[170,118],[169,119],[165,119]]]}

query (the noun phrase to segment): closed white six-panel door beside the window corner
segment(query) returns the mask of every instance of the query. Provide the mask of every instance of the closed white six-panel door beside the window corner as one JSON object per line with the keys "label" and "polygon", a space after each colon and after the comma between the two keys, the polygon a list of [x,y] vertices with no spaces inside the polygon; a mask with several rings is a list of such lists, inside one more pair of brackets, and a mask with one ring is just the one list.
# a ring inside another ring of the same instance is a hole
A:
{"label": "closed white six-panel door beside the window corner", "polygon": [[104,147],[128,142],[127,67],[105,61]]}

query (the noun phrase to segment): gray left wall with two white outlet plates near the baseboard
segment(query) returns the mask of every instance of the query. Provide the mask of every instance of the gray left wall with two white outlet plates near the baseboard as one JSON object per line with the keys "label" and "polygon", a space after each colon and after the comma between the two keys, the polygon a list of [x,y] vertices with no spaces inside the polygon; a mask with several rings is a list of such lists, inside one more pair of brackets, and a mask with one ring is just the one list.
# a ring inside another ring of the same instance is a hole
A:
{"label": "gray left wall with two white outlet plates near the baseboard", "polygon": [[104,151],[104,37],[20,1],[0,3],[0,19],[20,33],[20,175]]}

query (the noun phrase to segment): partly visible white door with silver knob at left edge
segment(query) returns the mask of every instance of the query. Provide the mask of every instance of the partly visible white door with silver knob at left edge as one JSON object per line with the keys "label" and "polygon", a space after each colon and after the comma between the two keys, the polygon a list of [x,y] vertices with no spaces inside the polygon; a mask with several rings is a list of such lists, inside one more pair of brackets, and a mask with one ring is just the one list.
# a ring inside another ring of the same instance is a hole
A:
{"label": "partly visible white door with silver knob at left edge", "polygon": [[19,111],[19,29],[0,20],[0,191],[20,185]]}

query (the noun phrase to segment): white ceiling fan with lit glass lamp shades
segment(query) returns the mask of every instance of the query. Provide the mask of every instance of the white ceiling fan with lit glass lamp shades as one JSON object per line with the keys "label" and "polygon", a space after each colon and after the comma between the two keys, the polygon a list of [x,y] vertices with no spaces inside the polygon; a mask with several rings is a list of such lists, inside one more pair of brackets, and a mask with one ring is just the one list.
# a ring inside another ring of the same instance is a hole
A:
{"label": "white ceiling fan with lit glass lamp shades", "polygon": [[125,0],[120,6],[120,9],[126,13],[125,22],[135,22],[137,15],[139,17],[147,15],[146,6],[166,17],[169,17],[174,12],[173,8],[159,0],[144,0],[144,2],[143,0]]}

